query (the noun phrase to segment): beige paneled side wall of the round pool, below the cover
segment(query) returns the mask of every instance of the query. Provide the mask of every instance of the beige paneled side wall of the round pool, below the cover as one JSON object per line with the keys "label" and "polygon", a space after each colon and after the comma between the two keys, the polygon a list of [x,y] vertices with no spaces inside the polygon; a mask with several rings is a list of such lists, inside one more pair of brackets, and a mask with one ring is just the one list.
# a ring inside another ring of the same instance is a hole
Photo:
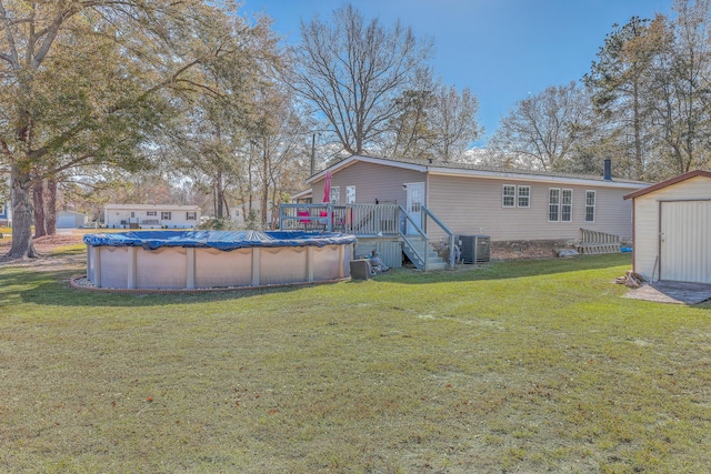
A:
{"label": "beige paneled side wall of the round pool, below the cover", "polygon": [[354,243],[214,248],[87,245],[87,279],[97,288],[193,290],[282,285],[350,276]]}

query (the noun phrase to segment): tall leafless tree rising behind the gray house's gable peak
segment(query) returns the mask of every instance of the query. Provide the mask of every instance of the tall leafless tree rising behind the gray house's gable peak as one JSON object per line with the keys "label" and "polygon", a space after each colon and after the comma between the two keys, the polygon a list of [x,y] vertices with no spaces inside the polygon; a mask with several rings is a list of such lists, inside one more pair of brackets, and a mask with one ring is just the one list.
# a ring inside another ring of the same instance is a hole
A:
{"label": "tall leafless tree rising behind the gray house's gable peak", "polygon": [[289,83],[316,104],[343,149],[363,153],[387,130],[418,68],[431,57],[431,41],[419,41],[410,28],[395,22],[365,22],[346,4],[332,21],[318,16],[301,22]]}

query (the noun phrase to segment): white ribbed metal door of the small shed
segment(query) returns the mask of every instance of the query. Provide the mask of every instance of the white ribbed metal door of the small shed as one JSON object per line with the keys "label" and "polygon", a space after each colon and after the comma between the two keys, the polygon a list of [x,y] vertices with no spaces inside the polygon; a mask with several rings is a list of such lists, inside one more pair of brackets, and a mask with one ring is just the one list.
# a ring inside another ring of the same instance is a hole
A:
{"label": "white ribbed metal door of the small shed", "polygon": [[661,203],[660,279],[711,283],[711,201]]}

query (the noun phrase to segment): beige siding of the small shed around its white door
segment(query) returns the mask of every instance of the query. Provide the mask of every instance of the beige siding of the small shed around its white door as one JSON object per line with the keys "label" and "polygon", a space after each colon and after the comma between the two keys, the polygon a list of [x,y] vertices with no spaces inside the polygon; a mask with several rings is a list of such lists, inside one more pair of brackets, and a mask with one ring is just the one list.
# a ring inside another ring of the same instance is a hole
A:
{"label": "beige siding of the small shed around its white door", "polygon": [[[711,199],[711,180],[692,178],[634,199],[634,271],[645,279],[659,278],[660,201]],[[693,229],[689,229],[693,232]]]}

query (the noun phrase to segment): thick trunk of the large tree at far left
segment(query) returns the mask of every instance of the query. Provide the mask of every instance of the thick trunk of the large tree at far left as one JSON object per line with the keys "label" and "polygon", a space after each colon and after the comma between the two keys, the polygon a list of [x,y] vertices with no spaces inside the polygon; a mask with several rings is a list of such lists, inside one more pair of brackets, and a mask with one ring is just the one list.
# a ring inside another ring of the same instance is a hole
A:
{"label": "thick trunk of the large tree at far left", "polygon": [[12,246],[8,256],[11,259],[36,259],[39,256],[32,244],[32,204],[30,192],[32,180],[16,167],[11,170],[12,191]]}

